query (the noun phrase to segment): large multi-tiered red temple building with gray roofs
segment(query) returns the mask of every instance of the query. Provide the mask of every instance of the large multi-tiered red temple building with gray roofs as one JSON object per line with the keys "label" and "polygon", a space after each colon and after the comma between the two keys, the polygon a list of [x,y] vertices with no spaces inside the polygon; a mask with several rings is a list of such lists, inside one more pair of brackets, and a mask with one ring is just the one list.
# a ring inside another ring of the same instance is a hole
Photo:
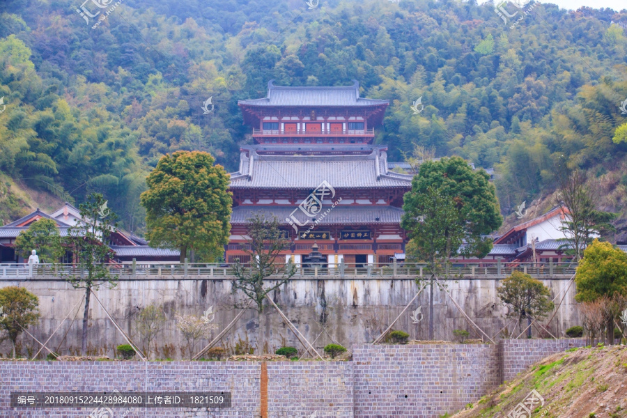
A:
{"label": "large multi-tiered red temple building with gray roofs", "polygon": [[307,263],[316,242],[327,263],[389,263],[405,249],[403,194],[412,176],[392,172],[373,145],[389,102],[346,87],[284,87],[241,100],[254,145],[231,173],[233,215],[226,261],[246,262],[247,219],[276,216],[291,242],[286,261]]}

